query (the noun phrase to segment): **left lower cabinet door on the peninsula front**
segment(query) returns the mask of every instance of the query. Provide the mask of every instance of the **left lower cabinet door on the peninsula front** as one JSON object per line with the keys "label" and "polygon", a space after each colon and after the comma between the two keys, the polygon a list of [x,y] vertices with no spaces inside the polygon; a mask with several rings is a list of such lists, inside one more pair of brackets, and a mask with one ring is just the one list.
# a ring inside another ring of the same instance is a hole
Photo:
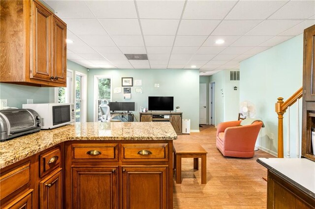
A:
{"label": "left lower cabinet door on the peninsula front", "polygon": [[117,209],[117,167],[72,168],[73,209]]}

